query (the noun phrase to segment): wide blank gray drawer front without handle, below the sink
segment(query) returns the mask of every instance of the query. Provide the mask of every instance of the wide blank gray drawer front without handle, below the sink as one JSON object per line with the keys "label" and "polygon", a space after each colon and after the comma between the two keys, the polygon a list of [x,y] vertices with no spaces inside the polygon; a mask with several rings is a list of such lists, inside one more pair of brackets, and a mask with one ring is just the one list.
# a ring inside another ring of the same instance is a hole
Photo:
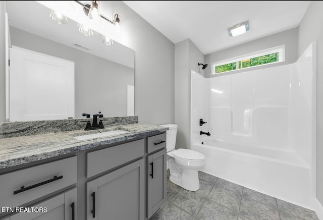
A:
{"label": "wide blank gray drawer front without handle, below the sink", "polygon": [[143,156],[144,139],[87,153],[87,178]]}

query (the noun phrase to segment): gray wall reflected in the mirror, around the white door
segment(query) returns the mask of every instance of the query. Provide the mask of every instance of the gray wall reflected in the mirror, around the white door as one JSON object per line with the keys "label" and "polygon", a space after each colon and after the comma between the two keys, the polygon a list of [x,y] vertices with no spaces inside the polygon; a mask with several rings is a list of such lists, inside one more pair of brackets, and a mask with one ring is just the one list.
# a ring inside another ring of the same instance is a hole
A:
{"label": "gray wall reflected in the mirror, around the white door", "polygon": [[74,61],[75,118],[99,111],[104,117],[127,116],[127,85],[134,85],[134,69],[14,27],[10,37],[14,46]]}

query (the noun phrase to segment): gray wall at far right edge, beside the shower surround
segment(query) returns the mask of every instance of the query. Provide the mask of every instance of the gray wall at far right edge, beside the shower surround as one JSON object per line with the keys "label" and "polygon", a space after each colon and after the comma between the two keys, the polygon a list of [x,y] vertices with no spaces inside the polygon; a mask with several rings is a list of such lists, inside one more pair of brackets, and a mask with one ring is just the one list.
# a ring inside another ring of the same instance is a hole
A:
{"label": "gray wall at far right edge, beside the shower surround", "polygon": [[323,2],[312,1],[300,25],[298,55],[317,41],[316,73],[316,198],[323,205]]}

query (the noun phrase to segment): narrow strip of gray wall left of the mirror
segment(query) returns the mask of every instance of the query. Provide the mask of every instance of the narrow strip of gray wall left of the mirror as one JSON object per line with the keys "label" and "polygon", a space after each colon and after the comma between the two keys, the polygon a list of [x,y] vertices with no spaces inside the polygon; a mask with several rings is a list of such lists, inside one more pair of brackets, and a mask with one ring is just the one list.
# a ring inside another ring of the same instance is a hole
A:
{"label": "narrow strip of gray wall left of the mirror", "polygon": [[5,2],[0,1],[0,122],[6,121]]}

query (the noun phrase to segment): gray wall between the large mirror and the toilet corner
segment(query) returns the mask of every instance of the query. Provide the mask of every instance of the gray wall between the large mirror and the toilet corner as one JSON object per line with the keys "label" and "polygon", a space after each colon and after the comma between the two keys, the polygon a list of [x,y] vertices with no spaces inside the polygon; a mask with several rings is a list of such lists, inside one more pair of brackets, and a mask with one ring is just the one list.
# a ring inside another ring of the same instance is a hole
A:
{"label": "gray wall between the large mirror and the toilet corner", "polygon": [[135,50],[135,115],[139,123],[174,123],[175,45],[122,1],[112,11],[122,16],[124,45]]}

